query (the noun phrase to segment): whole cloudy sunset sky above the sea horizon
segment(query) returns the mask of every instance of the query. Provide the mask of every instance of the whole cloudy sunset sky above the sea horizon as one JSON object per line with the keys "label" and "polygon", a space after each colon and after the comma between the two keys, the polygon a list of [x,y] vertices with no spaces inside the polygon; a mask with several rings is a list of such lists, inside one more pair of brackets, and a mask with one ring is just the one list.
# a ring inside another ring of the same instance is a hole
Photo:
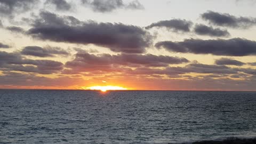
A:
{"label": "whole cloudy sunset sky above the sea horizon", "polygon": [[255,0],[0,0],[0,89],[256,91]]}

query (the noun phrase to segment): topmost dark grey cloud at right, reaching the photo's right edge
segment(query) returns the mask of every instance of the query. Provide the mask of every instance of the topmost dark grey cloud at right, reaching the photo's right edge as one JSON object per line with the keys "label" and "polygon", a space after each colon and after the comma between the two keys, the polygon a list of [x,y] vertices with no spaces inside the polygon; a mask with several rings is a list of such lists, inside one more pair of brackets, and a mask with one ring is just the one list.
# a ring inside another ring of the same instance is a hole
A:
{"label": "topmost dark grey cloud at right, reaching the photo's right edge", "polygon": [[213,11],[205,12],[201,15],[204,20],[213,25],[232,27],[232,28],[250,28],[256,25],[256,19],[250,17],[235,17],[228,13],[218,13]]}

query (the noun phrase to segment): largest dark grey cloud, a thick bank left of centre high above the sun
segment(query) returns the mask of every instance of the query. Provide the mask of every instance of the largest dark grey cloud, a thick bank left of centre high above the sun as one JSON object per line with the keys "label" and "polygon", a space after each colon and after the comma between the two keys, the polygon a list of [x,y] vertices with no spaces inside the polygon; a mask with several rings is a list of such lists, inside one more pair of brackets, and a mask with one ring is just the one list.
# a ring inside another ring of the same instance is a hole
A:
{"label": "largest dark grey cloud, a thick bank left of centre high above the sun", "polygon": [[41,12],[27,32],[34,38],[77,44],[95,44],[114,52],[143,53],[152,36],[140,27],[122,23],[79,21],[74,17]]}

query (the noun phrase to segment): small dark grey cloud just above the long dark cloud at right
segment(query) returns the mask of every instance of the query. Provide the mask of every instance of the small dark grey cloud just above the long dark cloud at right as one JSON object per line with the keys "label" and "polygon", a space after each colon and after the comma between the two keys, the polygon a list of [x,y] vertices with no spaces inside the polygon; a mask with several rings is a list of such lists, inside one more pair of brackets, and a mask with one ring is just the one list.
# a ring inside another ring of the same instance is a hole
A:
{"label": "small dark grey cloud just above the long dark cloud at right", "polygon": [[227,29],[213,28],[205,25],[196,25],[194,30],[195,33],[198,35],[209,35],[218,37],[230,36]]}

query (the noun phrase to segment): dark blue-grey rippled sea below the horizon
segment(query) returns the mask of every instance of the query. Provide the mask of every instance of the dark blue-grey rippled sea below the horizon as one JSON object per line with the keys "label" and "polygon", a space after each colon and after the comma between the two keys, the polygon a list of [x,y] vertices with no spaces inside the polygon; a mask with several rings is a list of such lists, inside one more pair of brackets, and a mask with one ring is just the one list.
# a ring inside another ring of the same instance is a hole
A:
{"label": "dark blue-grey rippled sea below the horizon", "polygon": [[0,143],[256,137],[256,92],[0,90]]}

